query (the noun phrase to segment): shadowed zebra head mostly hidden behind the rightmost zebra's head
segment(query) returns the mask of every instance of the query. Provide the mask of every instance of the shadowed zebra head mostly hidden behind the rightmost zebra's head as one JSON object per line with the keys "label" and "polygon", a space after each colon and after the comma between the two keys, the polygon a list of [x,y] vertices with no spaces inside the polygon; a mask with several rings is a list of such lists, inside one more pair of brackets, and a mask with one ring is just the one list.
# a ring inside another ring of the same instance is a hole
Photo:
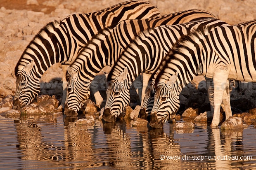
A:
{"label": "shadowed zebra head mostly hidden behind the rightmost zebra's head", "polygon": [[140,107],[139,117],[141,119],[147,119],[147,116],[151,113],[152,106],[154,104],[155,85],[151,82],[146,89],[145,97]]}

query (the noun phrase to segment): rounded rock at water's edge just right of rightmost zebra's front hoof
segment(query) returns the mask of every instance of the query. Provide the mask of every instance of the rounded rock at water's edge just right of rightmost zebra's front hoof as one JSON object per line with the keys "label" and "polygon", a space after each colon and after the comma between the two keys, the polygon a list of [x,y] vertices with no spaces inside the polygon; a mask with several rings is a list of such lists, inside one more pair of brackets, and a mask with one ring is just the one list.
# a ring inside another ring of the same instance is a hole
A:
{"label": "rounded rock at water's edge just right of rightmost zebra's front hoof", "polygon": [[222,123],[220,129],[239,129],[244,128],[241,117],[230,117]]}

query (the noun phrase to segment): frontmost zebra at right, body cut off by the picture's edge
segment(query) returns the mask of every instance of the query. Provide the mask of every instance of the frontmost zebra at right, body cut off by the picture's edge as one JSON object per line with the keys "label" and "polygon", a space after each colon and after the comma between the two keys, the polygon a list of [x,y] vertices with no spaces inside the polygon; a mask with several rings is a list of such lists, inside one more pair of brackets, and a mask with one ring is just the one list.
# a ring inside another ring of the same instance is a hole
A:
{"label": "frontmost zebra at right, body cut off by the picture's edge", "polygon": [[[219,121],[221,101],[226,119],[232,116],[227,79],[256,82],[256,22],[237,26],[198,29],[184,36],[165,58],[157,75],[150,126],[161,128],[179,108],[180,91],[196,75],[213,79],[214,112],[211,127]],[[223,98],[223,94],[227,94]]]}

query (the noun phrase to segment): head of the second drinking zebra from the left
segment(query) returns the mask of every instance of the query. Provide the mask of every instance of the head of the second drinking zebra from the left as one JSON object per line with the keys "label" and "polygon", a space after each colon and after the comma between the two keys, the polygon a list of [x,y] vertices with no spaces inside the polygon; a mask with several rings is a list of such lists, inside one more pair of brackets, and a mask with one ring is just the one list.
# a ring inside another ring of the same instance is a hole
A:
{"label": "head of the second drinking zebra from the left", "polygon": [[78,72],[69,67],[66,72],[67,96],[64,114],[66,116],[76,116],[85,100],[90,97],[90,82],[80,80]]}

